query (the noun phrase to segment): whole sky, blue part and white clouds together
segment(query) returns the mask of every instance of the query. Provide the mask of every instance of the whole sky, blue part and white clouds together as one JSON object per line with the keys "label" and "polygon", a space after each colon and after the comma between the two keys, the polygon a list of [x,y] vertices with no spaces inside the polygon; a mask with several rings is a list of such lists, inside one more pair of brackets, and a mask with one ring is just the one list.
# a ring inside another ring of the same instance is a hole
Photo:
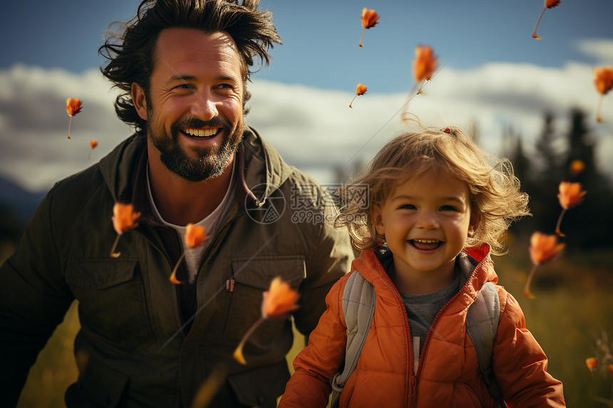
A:
{"label": "whole sky, blue part and white clouds together", "polygon": [[[138,4],[35,0],[4,5],[0,177],[46,189],[54,179],[91,164],[76,143],[62,138],[68,97],[85,101],[71,135],[81,135],[86,146],[98,140],[93,159],[129,134],[113,115],[113,93],[98,72],[103,58],[97,51],[108,24],[130,19]],[[261,6],[272,10],[284,44],[272,49],[272,66],[252,77],[247,123],[288,162],[322,182],[351,158],[370,159],[401,131],[398,111],[413,86],[411,62],[418,44],[432,46],[445,67],[411,108],[430,125],[478,125],[484,147],[495,155],[506,127],[524,137],[530,150],[545,110],[557,115],[561,130],[572,107],[592,119],[598,96],[592,70],[613,65],[612,0],[562,0],[545,12],[540,41],[531,34],[541,0],[262,0]],[[363,7],[375,9],[381,19],[366,31],[359,48]],[[357,83],[369,92],[350,110]],[[607,95],[603,101],[605,123],[589,125],[602,164],[613,174],[613,164],[605,159],[613,155],[612,99]]]}

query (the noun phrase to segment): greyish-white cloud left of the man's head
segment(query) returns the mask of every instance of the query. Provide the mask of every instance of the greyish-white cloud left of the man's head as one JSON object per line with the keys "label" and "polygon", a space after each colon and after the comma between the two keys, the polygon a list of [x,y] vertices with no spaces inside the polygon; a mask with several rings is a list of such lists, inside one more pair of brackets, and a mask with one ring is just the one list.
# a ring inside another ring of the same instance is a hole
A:
{"label": "greyish-white cloud left of the man's head", "polygon": [[[129,134],[115,117],[115,95],[96,69],[79,75],[29,66],[0,70],[0,175],[39,191],[93,164]],[[66,98],[83,101],[72,119],[73,140],[66,137]],[[98,147],[88,160],[90,140]]]}

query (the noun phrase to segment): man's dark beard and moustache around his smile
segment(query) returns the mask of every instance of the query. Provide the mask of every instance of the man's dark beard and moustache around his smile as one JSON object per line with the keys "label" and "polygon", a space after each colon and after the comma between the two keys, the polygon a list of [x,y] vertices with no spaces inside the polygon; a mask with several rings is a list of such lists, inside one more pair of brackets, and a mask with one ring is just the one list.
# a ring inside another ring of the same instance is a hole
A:
{"label": "man's dark beard and moustache around his smile", "polygon": [[[152,117],[150,115],[149,117]],[[230,135],[225,137],[215,152],[215,146],[211,147],[190,147],[190,150],[197,153],[197,157],[191,158],[187,152],[182,150],[179,145],[179,130],[186,128],[200,129],[205,126],[221,127],[223,130],[231,130],[230,124],[220,117],[204,121],[192,117],[187,120],[175,122],[170,127],[170,137],[166,134],[163,127],[155,128],[153,120],[147,122],[147,133],[153,146],[160,151],[160,160],[171,172],[177,174],[182,179],[190,182],[202,182],[202,180],[212,179],[220,176],[242,138],[244,122],[239,120],[237,128]]]}

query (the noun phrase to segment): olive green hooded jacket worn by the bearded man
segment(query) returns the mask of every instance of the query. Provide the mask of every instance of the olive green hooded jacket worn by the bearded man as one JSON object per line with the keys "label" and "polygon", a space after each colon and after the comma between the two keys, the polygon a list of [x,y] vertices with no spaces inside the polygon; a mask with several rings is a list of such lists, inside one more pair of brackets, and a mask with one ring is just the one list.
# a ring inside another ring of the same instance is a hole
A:
{"label": "olive green hooded jacket worn by the bearded man", "polygon": [[[308,335],[333,283],[349,271],[349,235],[313,179],[283,162],[247,128],[237,153],[237,202],[206,249],[195,285],[168,280],[182,247],[143,199],[145,137],[133,135],[98,164],[58,182],[0,268],[0,402],[15,404],[27,373],[73,300],[80,375],[68,407],[190,407],[212,370],[227,374],[241,404],[274,406],[289,379],[289,318],[271,318],[232,360],[258,320],[262,293],[281,276],[300,293],[293,313]],[[118,241],[115,202],[132,202],[140,224]],[[309,212],[310,211],[310,212]],[[192,313],[190,313],[190,310]],[[0,406],[4,404],[0,403]]]}

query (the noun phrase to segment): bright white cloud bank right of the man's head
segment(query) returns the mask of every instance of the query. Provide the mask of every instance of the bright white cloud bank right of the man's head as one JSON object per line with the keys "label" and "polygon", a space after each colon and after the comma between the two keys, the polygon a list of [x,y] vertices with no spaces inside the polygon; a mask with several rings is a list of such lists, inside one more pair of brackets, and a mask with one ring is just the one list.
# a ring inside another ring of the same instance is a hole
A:
{"label": "bright white cloud bank right of the man's head", "polygon": [[[398,110],[408,97],[403,93],[366,93],[349,109],[354,96],[349,92],[267,81],[257,81],[250,89],[254,96],[247,121],[288,162],[316,172],[321,182],[334,181],[331,168],[346,164],[354,155],[366,162],[390,137],[412,129],[400,122]],[[530,149],[542,130],[545,111],[555,115],[555,126],[564,137],[570,109],[580,108],[587,113],[586,124],[598,142],[599,164],[613,172],[607,159],[613,157],[613,100],[603,100],[606,122],[595,122],[599,95],[589,66],[489,63],[474,70],[444,68],[424,93],[413,98],[409,108],[425,125],[468,130],[473,122],[483,147],[493,155],[500,155],[505,127],[519,133]],[[346,168],[352,169],[352,163]]]}

